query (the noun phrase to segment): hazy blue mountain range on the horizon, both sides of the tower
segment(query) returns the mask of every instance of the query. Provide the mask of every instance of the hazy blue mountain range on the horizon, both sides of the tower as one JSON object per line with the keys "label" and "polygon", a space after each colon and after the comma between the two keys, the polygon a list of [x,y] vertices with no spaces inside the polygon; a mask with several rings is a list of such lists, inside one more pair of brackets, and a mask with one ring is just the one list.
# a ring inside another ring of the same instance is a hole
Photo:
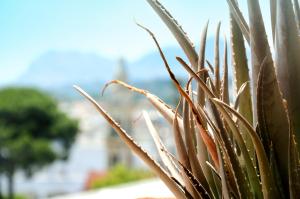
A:
{"label": "hazy blue mountain range on the horizon, both sides of the tower", "polygon": [[[212,63],[213,46],[214,39],[209,38],[206,58]],[[223,44],[220,46],[222,48]],[[176,76],[187,77],[186,72],[175,59],[176,56],[186,59],[183,51],[179,47],[167,47],[163,48],[163,51]],[[81,85],[95,93],[100,91],[105,82],[114,78],[116,65],[117,60],[107,59],[93,53],[50,51],[33,61],[16,84],[39,87],[56,96],[64,97],[74,96],[72,89],[74,84]],[[126,63],[126,68],[131,83],[155,89],[158,82],[168,82],[166,81],[168,73],[156,49],[135,62]]]}

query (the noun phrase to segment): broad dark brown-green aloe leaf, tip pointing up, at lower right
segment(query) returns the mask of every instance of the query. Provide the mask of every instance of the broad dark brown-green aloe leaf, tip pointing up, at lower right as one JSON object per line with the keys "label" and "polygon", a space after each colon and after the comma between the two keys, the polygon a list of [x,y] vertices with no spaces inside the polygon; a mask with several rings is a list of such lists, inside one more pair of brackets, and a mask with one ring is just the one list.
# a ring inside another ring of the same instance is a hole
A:
{"label": "broad dark brown-green aloe leaf, tip pointing up, at lower right", "polygon": [[287,112],[283,105],[275,68],[266,62],[262,63],[259,73],[257,117],[266,153],[270,154],[268,147],[272,143],[284,191],[288,193],[289,125]]}

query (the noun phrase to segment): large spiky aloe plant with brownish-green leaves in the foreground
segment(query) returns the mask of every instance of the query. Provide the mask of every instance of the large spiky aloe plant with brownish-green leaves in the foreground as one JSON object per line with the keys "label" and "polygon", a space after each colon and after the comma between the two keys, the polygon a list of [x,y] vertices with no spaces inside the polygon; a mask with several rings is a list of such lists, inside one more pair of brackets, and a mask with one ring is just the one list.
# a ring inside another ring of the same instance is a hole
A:
{"label": "large spiky aloe plant with brownish-green leaves in the foreground", "polygon": [[[144,113],[162,159],[162,165],[159,165],[94,99],[81,88],[75,88],[96,107],[125,144],[148,164],[176,198],[299,197],[298,1],[270,0],[271,46],[274,46],[271,50],[258,0],[247,1],[249,24],[238,2],[227,0],[235,89],[228,86],[230,65],[227,63],[227,45],[223,67],[220,67],[220,25],[216,32],[215,60],[205,62],[208,23],[203,29],[197,54],[187,34],[166,8],[157,0],[147,2],[170,29],[188,60],[176,57],[189,74],[186,84],[181,85],[155,35],[139,25],[153,39],[181,96],[178,106],[173,109],[150,92],[118,80],[109,82],[105,87],[119,84],[144,95],[172,126],[176,154],[167,151],[151,119]],[[251,52],[248,58],[246,48]],[[247,59],[251,59],[251,68]],[[222,78],[220,70],[223,71]],[[249,70],[252,71],[251,78]],[[191,84],[192,81],[195,84]],[[230,89],[236,93],[233,102],[229,100]],[[179,109],[180,106],[182,109]]]}

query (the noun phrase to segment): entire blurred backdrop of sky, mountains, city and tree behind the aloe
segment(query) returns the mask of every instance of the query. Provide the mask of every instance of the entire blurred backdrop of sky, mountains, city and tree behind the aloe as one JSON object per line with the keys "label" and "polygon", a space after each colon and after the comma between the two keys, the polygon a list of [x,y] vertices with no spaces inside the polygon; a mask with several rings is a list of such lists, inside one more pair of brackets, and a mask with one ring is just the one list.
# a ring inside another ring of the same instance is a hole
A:
{"label": "entire blurred backdrop of sky, mountains, city and tree behind the aloe", "polygon": [[[196,48],[209,20],[206,56],[212,60],[219,21],[229,38],[226,1],[161,2]],[[241,7],[246,14],[245,2]],[[268,9],[266,2],[262,9]],[[156,34],[175,74],[186,78],[175,60],[185,59],[183,52],[146,1],[0,1],[1,197],[14,192],[18,197],[47,198],[118,183],[109,178],[153,177],[74,84],[94,96],[157,159],[141,117],[146,110],[174,150],[169,125],[141,96],[118,86],[100,94],[106,82],[120,79],[172,106],[178,102],[152,39],[135,21]],[[129,170],[130,176],[124,177]]]}

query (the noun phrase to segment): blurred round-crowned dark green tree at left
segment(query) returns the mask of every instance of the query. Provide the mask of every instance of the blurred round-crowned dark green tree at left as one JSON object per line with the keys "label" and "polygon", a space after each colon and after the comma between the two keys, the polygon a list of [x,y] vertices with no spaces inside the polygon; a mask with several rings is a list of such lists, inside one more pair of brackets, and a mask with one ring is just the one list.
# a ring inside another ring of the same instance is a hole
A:
{"label": "blurred round-crowned dark green tree at left", "polygon": [[57,159],[66,159],[78,131],[75,120],[47,94],[30,88],[0,90],[0,172],[14,197],[14,173],[28,176]]}

